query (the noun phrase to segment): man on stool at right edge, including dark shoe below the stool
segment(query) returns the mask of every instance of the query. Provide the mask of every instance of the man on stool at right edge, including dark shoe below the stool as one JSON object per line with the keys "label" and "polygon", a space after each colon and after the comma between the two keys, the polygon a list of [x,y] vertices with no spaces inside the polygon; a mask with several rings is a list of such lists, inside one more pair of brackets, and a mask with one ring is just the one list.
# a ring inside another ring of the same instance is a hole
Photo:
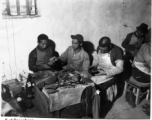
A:
{"label": "man on stool at right edge, including dark shoe below the stool", "polygon": [[[132,64],[132,77],[134,80],[143,84],[150,83],[151,75],[151,45],[150,42],[144,43],[139,51],[137,52],[133,64]],[[133,90],[133,87],[130,86],[130,91]],[[147,88],[141,88],[141,90],[146,90]],[[130,92],[126,95],[126,101],[132,106],[135,107],[135,95]]]}

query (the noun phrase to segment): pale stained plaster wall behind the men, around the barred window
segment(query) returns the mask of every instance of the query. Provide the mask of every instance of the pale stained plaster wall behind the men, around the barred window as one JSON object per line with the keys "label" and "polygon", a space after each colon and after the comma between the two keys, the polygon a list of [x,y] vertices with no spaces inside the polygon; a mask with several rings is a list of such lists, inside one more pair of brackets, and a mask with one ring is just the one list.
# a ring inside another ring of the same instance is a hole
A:
{"label": "pale stained plaster wall behind the men, around the barred window", "polygon": [[28,55],[45,33],[61,54],[80,33],[97,47],[103,36],[121,45],[140,23],[151,26],[151,0],[38,0],[41,17],[1,19],[2,80],[18,78],[28,70]]}

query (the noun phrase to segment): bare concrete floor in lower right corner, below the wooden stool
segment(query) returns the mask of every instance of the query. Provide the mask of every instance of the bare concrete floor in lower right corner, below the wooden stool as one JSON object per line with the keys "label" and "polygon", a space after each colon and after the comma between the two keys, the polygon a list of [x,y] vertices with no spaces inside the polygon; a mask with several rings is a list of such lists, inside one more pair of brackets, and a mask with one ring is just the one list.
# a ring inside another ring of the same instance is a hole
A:
{"label": "bare concrete floor in lower right corner, below the wooden stool", "polygon": [[115,101],[113,107],[106,115],[106,119],[150,119],[150,116],[143,112],[142,106],[150,104],[145,99],[135,108],[131,108],[125,101],[124,97],[120,97]]}

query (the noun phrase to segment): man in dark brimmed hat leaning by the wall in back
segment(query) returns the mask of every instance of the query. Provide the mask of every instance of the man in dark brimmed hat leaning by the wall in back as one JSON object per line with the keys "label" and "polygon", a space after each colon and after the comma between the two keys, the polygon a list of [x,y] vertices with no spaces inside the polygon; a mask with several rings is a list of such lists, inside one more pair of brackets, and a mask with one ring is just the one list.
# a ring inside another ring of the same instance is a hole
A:
{"label": "man in dark brimmed hat leaning by the wall in back", "polygon": [[122,47],[125,49],[124,71],[127,77],[130,77],[132,72],[132,62],[141,45],[145,42],[145,34],[148,32],[148,25],[142,23],[137,27],[135,32],[129,33],[122,42]]}

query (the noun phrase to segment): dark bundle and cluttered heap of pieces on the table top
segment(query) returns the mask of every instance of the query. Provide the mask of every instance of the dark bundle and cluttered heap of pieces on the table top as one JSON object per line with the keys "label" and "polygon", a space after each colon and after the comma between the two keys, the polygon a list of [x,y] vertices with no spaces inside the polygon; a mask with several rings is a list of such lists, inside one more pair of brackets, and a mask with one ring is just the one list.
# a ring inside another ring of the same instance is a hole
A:
{"label": "dark bundle and cluttered heap of pieces on the table top", "polygon": [[81,76],[76,71],[39,71],[33,75],[35,85],[42,90],[45,88],[48,94],[58,92],[58,87],[75,87],[76,84],[83,84]]}

